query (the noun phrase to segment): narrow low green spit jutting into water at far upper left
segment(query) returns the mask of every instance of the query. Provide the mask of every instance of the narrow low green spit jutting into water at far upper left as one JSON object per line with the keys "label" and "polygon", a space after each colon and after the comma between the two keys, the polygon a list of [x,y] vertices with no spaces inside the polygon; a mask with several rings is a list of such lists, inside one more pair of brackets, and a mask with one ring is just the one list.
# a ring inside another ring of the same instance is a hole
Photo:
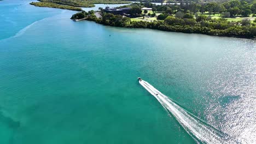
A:
{"label": "narrow low green spit jutting into water at far upper left", "polygon": [[50,8],[59,8],[59,9],[69,9],[69,10],[82,11],[81,8],[73,7],[73,6],[70,6],[70,5],[61,5],[61,4],[56,4],[56,3],[49,3],[49,2],[32,2],[30,4],[35,5],[37,7],[50,7]]}

